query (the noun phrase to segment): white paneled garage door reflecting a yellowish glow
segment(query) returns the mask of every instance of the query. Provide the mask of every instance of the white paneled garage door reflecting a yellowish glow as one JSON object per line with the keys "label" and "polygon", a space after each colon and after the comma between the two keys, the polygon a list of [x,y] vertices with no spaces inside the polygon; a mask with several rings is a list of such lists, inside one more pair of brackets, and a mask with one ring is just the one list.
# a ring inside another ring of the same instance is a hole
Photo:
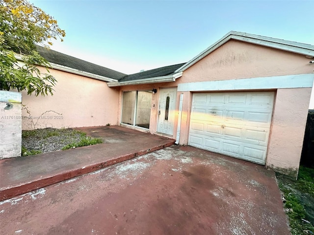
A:
{"label": "white paneled garage door reflecting a yellowish glow", "polygon": [[273,92],[195,93],[188,144],[265,164]]}

